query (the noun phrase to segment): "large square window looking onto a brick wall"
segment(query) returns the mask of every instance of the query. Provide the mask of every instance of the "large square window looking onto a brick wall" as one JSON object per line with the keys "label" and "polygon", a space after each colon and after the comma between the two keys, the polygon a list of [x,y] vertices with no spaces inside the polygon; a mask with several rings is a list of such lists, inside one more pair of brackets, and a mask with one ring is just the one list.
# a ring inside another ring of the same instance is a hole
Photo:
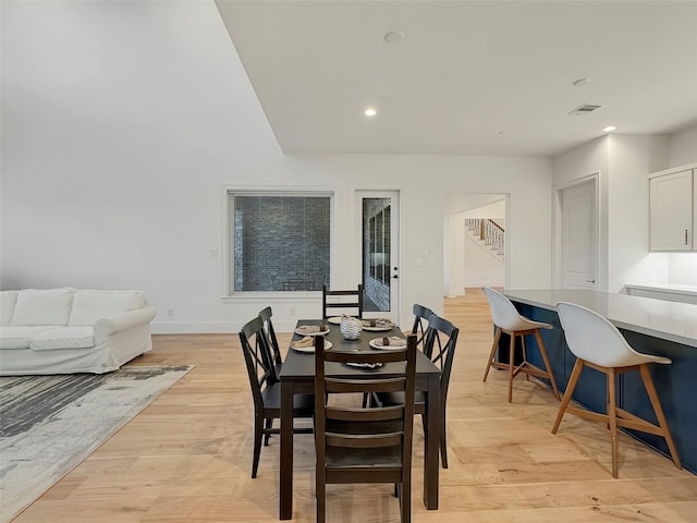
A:
{"label": "large square window looking onto a brick wall", "polygon": [[230,293],[329,285],[331,194],[229,192]]}

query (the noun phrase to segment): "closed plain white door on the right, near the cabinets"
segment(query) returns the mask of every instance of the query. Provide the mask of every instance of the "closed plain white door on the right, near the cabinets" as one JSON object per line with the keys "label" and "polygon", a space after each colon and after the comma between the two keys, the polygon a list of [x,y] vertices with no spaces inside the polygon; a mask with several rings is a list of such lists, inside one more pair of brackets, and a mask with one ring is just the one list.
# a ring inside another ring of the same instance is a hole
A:
{"label": "closed plain white door on the right, near the cabinets", "polygon": [[598,204],[596,179],[561,191],[562,287],[596,288]]}

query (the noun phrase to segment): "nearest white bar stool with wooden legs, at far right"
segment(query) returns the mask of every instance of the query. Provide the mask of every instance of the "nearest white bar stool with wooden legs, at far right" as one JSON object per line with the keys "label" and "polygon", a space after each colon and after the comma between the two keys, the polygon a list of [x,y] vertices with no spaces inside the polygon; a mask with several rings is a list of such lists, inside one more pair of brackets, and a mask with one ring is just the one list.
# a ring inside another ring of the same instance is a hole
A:
{"label": "nearest white bar stool with wooden legs, at far right", "polygon": [[[656,387],[653,386],[653,380],[651,379],[648,368],[649,363],[670,365],[672,362],[668,357],[636,352],[614,325],[589,308],[573,303],[560,302],[557,304],[557,309],[562,329],[564,329],[566,343],[571,352],[576,356],[576,363],[571,373],[564,399],[557,414],[552,434],[557,434],[565,411],[572,412],[580,417],[609,424],[612,443],[612,477],[615,478],[617,477],[617,427],[626,427],[633,430],[663,436],[671,452],[673,463],[677,469],[682,469],[673,438],[668,429],[663,409],[661,409],[661,402],[656,393]],[[608,414],[599,414],[573,406],[568,408],[572,393],[584,367],[595,368],[607,376]],[[656,412],[658,425],[653,425],[616,406],[614,377],[628,370],[639,370],[641,374],[641,380],[644,381],[649,400]]]}

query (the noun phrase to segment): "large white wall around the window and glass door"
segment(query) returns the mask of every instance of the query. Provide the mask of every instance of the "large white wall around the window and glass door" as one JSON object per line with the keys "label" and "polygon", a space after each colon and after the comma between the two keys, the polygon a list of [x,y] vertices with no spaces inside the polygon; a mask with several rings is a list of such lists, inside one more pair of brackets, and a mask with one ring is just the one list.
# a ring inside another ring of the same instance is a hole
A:
{"label": "large white wall around the window and glass door", "polygon": [[[510,194],[508,284],[549,287],[551,239],[529,234],[550,230],[549,159],[285,156],[212,2],[0,5],[2,289],[144,289],[156,332],[232,332],[266,305],[281,329],[316,316],[319,295],[221,300],[224,185],[331,187],[340,239],[354,191],[401,190],[405,325],[414,302],[442,309],[453,192]],[[355,283],[334,246],[335,283]]]}

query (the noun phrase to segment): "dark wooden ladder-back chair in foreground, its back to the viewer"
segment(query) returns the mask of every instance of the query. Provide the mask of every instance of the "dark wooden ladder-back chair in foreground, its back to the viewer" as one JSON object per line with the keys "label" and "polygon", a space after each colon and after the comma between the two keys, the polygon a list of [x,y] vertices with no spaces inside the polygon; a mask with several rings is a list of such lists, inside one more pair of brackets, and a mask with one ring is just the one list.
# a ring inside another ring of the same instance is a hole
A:
{"label": "dark wooden ladder-back chair in foreground, its back to the viewer", "polygon": [[[345,365],[394,365],[399,374],[342,379],[325,370],[328,362]],[[416,337],[406,348],[391,351],[325,351],[323,337],[315,340],[315,467],[317,522],[326,519],[328,484],[391,483],[400,500],[402,523],[412,519],[412,439],[414,425],[414,381]],[[367,408],[351,394],[400,392],[404,402]],[[337,401],[339,400],[339,401]]]}

